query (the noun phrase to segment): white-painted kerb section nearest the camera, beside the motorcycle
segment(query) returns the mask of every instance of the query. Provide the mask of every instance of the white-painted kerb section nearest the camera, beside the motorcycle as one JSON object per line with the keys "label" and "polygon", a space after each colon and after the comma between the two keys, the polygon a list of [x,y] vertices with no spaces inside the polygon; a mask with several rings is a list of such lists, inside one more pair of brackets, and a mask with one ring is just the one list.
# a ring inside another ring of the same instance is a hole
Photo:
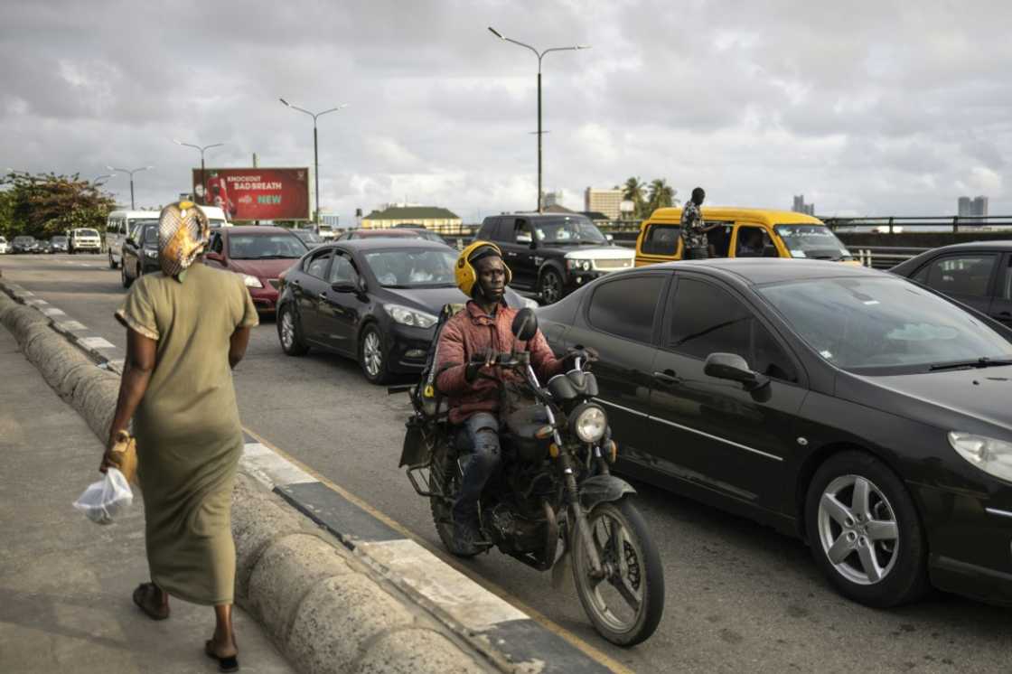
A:
{"label": "white-painted kerb section nearest the camera, beside the motorcycle", "polygon": [[359,542],[356,547],[469,629],[485,631],[507,620],[528,619],[410,538]]}

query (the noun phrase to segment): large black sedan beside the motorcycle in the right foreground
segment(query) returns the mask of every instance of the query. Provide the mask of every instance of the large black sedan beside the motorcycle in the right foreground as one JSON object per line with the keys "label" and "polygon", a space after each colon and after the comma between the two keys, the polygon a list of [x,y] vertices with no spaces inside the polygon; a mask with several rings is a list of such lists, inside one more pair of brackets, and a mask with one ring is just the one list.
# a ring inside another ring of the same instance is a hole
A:
{"label": "large black sedan beside the motorcycle in the right foreground", "polygon": [[608,275],[538,310],[600,352],[621,470],[805,537],[873,606],[1012,604],[1012,331],[905,279],[803,260]]}

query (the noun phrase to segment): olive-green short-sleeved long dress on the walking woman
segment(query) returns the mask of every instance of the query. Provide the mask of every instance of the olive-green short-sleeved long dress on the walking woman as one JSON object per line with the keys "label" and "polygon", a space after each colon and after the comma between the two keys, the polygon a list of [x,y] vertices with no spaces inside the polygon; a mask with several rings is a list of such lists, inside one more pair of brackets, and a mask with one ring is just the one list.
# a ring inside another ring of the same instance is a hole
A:
{"label": "olive-green short-sleeved long dress on the walking woman", "polygon": [[116,318],[158,342],[134,415],[151,579],[197,604],[232,603],[232,489],[243,431],[229,367],[236,328],[257,325],[239,274],[195,263],[142,276]]}

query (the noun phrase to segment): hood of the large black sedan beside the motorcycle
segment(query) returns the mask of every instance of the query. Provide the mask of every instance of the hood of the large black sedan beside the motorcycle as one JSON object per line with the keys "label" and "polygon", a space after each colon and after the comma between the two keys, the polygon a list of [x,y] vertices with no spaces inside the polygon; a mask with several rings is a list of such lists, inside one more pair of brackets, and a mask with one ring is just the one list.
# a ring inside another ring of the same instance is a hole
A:
{"label": "hood of the large black sedan beside the motorcycle", "polygon": [[973,430],[983,422],[1012,433],[1012,365],[841,376],[837,395],[948,430]]}

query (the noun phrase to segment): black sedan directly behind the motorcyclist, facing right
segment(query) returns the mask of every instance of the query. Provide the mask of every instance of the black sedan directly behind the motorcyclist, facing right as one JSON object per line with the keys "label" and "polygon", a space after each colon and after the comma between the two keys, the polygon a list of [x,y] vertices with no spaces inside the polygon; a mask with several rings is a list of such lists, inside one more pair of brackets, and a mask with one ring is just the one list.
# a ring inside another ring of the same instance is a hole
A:
{"label": "black sedan directly behind the motorcyclist, facing right", "polygon": [[[355,358],[374,384],[425,365],[444,305],[467,302],[456,251],[421,239],[361,239],[314,249],[280,280],[277,335],[288,355],[309,348]],[[508,290],[515,307],[534,307]]]}

